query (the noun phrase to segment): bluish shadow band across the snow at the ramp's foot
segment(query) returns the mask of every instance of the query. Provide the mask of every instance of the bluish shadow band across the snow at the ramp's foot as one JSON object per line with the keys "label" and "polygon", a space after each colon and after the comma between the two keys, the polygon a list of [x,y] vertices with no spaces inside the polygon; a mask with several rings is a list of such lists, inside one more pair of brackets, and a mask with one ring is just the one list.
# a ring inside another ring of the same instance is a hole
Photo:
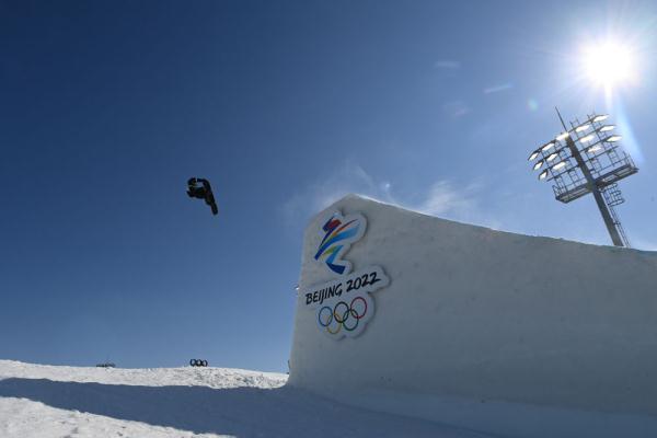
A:
{"label": "bluish shadow band across the snow at the ramp's foot", "polygon": [[474,437],[422,419],[343,405],[306,391],[137,387],[9,378],[0,396],[196,434],[313,437]]}

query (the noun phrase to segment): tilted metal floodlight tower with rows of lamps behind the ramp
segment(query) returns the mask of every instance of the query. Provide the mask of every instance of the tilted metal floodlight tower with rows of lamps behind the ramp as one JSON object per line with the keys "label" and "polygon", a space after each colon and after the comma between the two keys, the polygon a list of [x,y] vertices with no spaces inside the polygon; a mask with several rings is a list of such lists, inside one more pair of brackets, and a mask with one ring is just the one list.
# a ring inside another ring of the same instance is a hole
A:
{"label": "tilted metal floodlight tower with rows of lamps behind the ramp", "polygon": [[545,166],[539,180],[552,181],[554,197],[564,204],[591,193],[613,244],[629,247],[614,207],[625,201],[618,182],[638,172],[638,168],[620,149],[621,136],[611,132],[615,126],[602,124],[609,115],[590,114],[586,122],[570,122],[568,129],[555,110],[564,131],[529,155],[529,161],[539,159],[534,170]]}

